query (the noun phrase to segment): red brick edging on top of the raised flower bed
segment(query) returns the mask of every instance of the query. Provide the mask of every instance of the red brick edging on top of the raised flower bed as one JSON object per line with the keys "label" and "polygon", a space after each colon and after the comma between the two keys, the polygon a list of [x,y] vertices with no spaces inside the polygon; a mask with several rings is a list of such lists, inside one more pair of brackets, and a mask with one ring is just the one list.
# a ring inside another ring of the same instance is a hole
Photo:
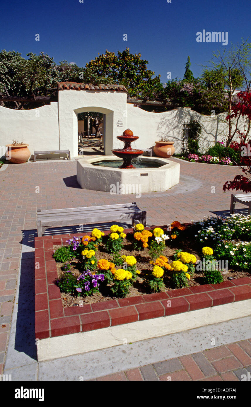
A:
{"label": "red brick edging on top of the raised flower bed", "polygon": [[[132,229],[124,230],[125,233]],[[105,231],[108,234],[109,231]],[[251,298],[251,277],[220,284],[172,290],[164,293],[118,298],[96,304],[64,308],[53,254],[53,245],[79,234],[35,238],[35,337],[44,339],[174,315]],[[39,267],[39,268],[38,268]]]}

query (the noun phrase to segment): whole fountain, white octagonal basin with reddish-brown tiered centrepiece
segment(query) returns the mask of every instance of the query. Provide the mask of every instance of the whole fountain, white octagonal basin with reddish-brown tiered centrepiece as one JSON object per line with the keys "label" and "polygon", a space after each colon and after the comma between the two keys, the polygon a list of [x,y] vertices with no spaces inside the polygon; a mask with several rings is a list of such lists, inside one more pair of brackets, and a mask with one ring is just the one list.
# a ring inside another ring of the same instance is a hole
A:
{"label": "whole fountain, white octagonal basin with reddish-brown tiered centrepiece", "polygon": [[[141,194],[166,191],[178,184],[177,162],[159,157],[140,157],[133,166],[132,160],[143,153],[142,150],[131,148],[131,142],[138,140],[138,137],[127,129],[117,138],[124,142],[123,149],[111,150],[117,157],[103,155],[77,160],[77,181],[81,188],[113,194],[116,187],[116,193],[130,194],[140,190]],[[120,186],[126,192],[120,192]]]}

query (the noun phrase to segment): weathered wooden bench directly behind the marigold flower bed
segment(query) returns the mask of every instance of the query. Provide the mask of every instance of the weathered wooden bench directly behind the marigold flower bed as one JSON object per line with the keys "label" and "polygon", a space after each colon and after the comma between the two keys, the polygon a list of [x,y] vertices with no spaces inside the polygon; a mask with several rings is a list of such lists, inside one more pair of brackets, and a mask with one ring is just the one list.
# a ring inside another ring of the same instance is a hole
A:
{"label": "weathered wooden bench directly behind the marigold flower bed", "polygon": [[85,208],[66,208],[37,210],[37,236],[53,226],[84,225],[122,219],[132,219],[134,223],[146,226],[146,211],[141,210],[136,202],[131,204],[87,206]]}

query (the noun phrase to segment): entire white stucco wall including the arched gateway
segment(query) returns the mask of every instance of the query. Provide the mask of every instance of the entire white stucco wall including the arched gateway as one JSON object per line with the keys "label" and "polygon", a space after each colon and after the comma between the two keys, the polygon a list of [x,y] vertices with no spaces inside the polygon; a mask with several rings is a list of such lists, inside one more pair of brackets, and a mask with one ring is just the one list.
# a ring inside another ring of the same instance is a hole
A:
{"label": "entire white stucco wall including the arched gateway", "polygon": [[[122,148],[117,140],[122,132],[130,128],[139,139],[133,148],[154,147],[155,141],[168,136],[174,141],[175,151],[181,152],[184,121],[193,116],[202,125],[201,152],[215,141],[226,139],[228,126],[226,113],[203,116],[190,108],[179,108],[164,113],[151,113],[127,104],[127,93],[116,91],[60,90],[58,103],[31,110],[14,110],[0,106],[0,156],[3,146],[13,139],[29,144],[31,158],[34,150],[46,151],[69,149],[71,156],[78,155],[77,114],[100,112],[105,114],[105,155]],[[239,120],[239,129],[245,119]],[[236,139],[238,137],[236,136]]]}

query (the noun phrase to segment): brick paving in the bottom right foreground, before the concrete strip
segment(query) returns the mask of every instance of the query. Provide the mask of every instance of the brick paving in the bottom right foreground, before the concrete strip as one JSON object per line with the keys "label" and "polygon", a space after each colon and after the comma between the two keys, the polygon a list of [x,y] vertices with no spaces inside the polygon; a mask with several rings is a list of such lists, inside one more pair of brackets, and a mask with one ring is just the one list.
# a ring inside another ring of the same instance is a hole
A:
{"label": "brick paving in the bottom right foreground, before the concrete strip", "polygon": [[[249,380],[251,358],[245,351],[251,339],[187,356],[98,377],[108,381],[244,381]],[[92,379],[93,380],[93,379]]]}

